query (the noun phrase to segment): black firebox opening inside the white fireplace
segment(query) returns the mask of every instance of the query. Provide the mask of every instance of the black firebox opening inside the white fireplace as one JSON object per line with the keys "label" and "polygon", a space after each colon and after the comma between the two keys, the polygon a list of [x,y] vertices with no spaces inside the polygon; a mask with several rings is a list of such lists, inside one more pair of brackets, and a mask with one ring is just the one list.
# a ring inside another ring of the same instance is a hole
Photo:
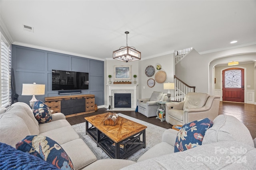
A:
{"label": "black firebox opening inside the white fireplace", "polygon": [[114,94],[115,108],[131,108],[131,94],[129,93],[115,93]]}

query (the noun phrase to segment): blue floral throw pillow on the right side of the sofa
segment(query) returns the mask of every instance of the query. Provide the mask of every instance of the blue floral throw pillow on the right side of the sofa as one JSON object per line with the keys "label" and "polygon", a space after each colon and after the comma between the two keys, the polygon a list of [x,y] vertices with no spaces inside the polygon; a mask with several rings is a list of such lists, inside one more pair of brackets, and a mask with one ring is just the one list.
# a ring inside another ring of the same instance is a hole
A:
{"label": "blue floral throw pillow on the right side of the sofa", "polygon": [[183,125],[178,132],[174,152],[182,152],[202,145],[204,134],[212,125],[213,122],[208,118],[192,121]]}

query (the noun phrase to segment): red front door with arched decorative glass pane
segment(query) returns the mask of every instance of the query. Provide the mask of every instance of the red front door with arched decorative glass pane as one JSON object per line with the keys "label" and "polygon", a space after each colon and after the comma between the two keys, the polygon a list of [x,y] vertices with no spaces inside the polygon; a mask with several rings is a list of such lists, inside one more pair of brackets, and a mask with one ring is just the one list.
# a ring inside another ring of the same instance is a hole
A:
{"label": "red front door with arched decorative glass pane", "polygon": [[228,68],[222,71],[222,100],[244,102],[244,69]]}

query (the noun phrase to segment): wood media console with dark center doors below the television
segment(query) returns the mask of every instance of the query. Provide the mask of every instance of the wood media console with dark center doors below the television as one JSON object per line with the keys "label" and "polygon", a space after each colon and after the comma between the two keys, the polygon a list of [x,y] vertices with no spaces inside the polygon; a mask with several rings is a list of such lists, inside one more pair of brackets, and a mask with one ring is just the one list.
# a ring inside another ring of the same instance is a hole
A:
{"label": "wood media console with dark center doors below the television", "polygon": [[44,100],[53,113],[61,112],[66,117],[95,112],[95,96],[93,94],[54,96],[46,97]]}

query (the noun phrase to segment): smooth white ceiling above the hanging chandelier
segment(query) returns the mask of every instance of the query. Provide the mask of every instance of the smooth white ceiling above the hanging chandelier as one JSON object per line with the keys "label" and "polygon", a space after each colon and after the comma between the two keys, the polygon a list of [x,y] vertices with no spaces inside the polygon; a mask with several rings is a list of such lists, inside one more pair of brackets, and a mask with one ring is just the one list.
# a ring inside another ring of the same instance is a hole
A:
{"label": "smooth white ceiling above the hanging chandelier", "polygon": [[125,31],[142,59],[256,44],[255,0],[1,0],[0,12],[13,44],[100,60],[126,46]]}

